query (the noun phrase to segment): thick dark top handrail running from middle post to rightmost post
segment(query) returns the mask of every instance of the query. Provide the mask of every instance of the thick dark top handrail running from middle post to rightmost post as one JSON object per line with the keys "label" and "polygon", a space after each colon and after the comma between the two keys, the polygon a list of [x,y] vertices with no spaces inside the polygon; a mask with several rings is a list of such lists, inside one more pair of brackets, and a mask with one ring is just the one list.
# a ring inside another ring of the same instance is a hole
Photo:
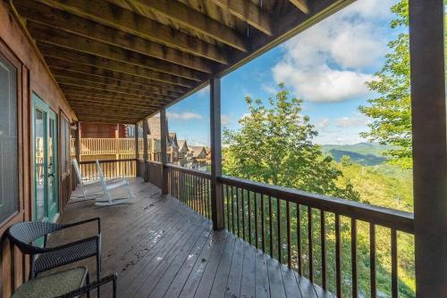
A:
{"label": "thick dark top handrail running from middle post to rightmost post", "polygon": [[218,180],[228,186],[236,186],[258,194],[270,195],[286,202],[299,203],[311,208],[330,211],[353,219],[364,220],[386,228],[395,228],[414,234],[413,213],[334,198],[327,195],[311,194],[297,189],[272,186],[241,178],[223,176],[219,177]]}

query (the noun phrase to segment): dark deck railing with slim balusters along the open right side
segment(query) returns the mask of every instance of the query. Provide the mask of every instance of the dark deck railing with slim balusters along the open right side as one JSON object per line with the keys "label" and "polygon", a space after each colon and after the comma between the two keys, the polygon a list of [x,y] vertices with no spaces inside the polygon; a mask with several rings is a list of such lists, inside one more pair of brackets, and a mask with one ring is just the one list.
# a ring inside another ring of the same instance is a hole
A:
{"label": "dark deck railing with slim balusters along the open right side", "polygon": [[[165,168],[169,194],[211,218],[210,174],[172,165]],[[398,236],[414,234],[412,213],[240,178],[223,176],[218,182],[223,185],[225,228],[338,297],[357,297],[360,292],[375,297],[380,232],[391,246],[381,247],[381,253],[388,253],[392,297],[398,297]],[[346,236],[349,244],[342,244]],[[367,272],[365,266],[359,268],[360,258],[368,259]],[[360,289],[359,276],[369,279],[368,289]]]}

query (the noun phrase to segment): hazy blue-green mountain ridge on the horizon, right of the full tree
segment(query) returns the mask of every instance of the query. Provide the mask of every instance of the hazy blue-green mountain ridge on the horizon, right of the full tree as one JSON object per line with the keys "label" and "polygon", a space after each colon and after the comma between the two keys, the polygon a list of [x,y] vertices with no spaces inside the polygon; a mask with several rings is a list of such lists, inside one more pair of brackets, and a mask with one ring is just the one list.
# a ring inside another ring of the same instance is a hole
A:
{"label": "hazy blue-green mountain ridge on the horizon, right of the full tree", "polygon": [[343,156],[364,166],[375,166],[384,163],[386,157],[382,153],[392,149],[391,145],[378,143],[358,143],[354,145],[322,145],[323,153],[331,155],[335,161],[340,162]]}

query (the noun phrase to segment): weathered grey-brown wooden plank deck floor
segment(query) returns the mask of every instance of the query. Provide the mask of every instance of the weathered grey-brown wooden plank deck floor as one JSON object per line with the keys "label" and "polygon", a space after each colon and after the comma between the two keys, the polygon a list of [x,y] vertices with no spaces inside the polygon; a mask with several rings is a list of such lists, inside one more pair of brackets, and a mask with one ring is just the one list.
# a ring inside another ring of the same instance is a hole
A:
{"label": "weathered grey-brown wooden plank deck floor", "polygon": [[[60,218],[101,218],[102,275],[118,273],[119,297],[332,297],[231,233],[213,231],[209,220],[161,196],[156,186],[132,178],[131,187],[135,203],[72,203]],[[94,231],[94,225],[67,230],[50,244]],[[95,277],[94,260],[80,264]],[[109,297],[110,289],[101,296]]]}

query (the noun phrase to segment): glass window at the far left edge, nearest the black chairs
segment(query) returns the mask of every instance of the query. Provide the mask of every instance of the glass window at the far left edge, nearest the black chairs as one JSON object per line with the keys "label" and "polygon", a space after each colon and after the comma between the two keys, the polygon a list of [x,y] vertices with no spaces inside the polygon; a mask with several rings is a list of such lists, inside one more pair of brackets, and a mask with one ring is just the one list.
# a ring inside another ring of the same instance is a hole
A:
{"label": "glass window at the far left edge, nearest the black chairs", "polygon": [[0,56],[0,222],[19,209],[17,70]]}

